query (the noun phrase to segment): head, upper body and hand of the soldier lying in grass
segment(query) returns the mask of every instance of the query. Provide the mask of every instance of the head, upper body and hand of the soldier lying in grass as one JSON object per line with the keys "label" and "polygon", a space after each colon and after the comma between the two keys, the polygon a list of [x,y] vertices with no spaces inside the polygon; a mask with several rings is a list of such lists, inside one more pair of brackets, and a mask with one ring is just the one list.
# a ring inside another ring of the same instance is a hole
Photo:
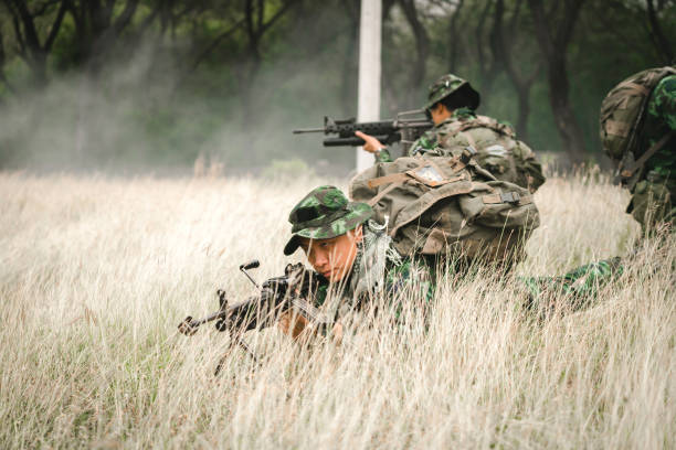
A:
{"label": "head, upper body and hand of the soldier lying in grass", "polygon": [[[303,248],[319,276],[311,300],[334,319],[363,308],[378,296],[398,301],[405,292],[432,299],[430,268],[422,260],[399,255],[384,227],[370,219],[372,214],[371,206],[348,202],[339,189],[319,186],[298,202],[288,216],[292,237],[284,254]],[[295,319],[299,323],[287,314],[279,323],[283,330],[297,336],[305,320]]]}

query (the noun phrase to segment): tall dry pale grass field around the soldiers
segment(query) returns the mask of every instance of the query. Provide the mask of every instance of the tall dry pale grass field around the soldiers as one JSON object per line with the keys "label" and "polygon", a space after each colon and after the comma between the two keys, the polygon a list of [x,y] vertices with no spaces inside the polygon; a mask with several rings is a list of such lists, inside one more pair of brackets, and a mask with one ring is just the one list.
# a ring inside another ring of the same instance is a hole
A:
{"label": "tall dry pale grass field around the soldiers", "polygon": [[[644,240],[583,311],[535,320],[514,279],[448,277],[431,326],[344,345],[249,333],[256,367],[208,326],[237,267],[281,275],[291,207],[318,180],[0,173],[0,448],[674,448],[674,237]],[[520,275],[625,255],[629,195],[550,178]],[[300,260],[295,255],[293,261]],[[506,282],[503,282],[506,281]]]}

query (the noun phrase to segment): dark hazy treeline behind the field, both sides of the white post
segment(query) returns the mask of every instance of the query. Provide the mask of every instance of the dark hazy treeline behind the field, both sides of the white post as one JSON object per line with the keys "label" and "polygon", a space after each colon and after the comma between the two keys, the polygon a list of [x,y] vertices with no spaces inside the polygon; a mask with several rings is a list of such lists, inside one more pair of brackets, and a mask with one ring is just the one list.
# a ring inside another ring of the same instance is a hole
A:
{"label": "dark hazy treeline behind the field, both sides of the white post", "polygon": [[[382,116],[453,72],[535,150],[599,154],[608,89],[673,64],[674,0],[383,0]],[[0,169],[345,167],[291,129],[353,116],[359,0],[0,0]]]}

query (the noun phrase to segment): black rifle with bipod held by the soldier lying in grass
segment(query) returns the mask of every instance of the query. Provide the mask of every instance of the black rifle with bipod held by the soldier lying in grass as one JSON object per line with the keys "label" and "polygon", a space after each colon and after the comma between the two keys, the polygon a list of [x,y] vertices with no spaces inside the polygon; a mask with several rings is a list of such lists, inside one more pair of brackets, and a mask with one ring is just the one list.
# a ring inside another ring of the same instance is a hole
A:
{"label": "black rifle with bipod held by the soldier lying in grass", "polygon": [[[258,289],[258,292],[236,302],[230,303],[223,289],[218,289],[219,310],[203,319],[188,315],[179,325],[179,332],[191,336],[200,325],[215,321],[218,331],[230,333],[231,343],[239,344],[260,364],[254,352],[243,341],[243,334],[249,330],[261,330],[275,323],[279,314],[291,309],[313,323],[318,331],[326,332],[330,320],[317,310],[307,297],[317,286],[314,272],[307,270],[302,262],[287,265],[284,275],[265,280],[260,286],[246,270],[255,269],[261,264],[254,259],[240,266],[240,270]],[[214,375],[221,372],[225,356],[219,361]]]}

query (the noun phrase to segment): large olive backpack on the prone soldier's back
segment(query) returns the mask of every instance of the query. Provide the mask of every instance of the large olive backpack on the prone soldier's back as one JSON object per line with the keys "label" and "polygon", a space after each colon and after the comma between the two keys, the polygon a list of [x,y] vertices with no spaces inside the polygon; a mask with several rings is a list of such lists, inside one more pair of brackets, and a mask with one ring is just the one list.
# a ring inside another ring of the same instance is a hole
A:
{"label": "large olive backpack on the prone soldier's back", "polygon": [[497,180],[474,154],[467,147],[378,163],[350,181],[350,197],[373,207],[401,255],[511,264],[540,224],[538,210],[528,190]]}

